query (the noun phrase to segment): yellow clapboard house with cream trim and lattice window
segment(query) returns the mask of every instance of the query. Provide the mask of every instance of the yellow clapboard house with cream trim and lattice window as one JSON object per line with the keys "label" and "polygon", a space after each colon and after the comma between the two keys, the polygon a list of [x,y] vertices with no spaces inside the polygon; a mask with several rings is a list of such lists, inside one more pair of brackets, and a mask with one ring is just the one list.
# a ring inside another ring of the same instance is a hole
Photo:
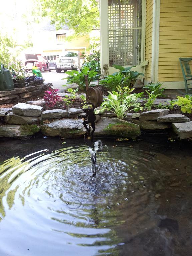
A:
{"label": "yellow clapboard house with cream trim and lattice window", "polygon": [[101,66],[110,74],[113,64],[142,72],[148,60],[145,84],[184,88],[179,57],[192,57],[192,0],[100,0],[100,22]]}

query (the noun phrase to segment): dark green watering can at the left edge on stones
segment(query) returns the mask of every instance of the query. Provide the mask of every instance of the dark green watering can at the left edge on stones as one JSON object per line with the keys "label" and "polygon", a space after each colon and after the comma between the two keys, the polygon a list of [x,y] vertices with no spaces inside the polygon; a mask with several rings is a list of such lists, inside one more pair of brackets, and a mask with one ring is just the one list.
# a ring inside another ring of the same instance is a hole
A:
{"label": "dark green watering can at the left edge on stones", "polygon": [[0,69],[0,91],[11,91],[14,89],[14,82],[11,73],[1,64]]}

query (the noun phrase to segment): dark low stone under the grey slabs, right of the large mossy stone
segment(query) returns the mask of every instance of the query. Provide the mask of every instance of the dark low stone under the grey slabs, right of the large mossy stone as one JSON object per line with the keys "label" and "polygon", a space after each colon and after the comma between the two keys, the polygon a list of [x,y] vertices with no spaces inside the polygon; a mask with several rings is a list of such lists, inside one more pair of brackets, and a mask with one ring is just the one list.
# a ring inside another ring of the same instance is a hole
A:
{"label": "dark low stone under the grey slabs, right of the large mossy stone", "polygon": [[140,121],[134,119],[133,122],[134,124],[138,124],[141,130],[162,130],[171,127],[170,123],[158,123],[157,121]]}

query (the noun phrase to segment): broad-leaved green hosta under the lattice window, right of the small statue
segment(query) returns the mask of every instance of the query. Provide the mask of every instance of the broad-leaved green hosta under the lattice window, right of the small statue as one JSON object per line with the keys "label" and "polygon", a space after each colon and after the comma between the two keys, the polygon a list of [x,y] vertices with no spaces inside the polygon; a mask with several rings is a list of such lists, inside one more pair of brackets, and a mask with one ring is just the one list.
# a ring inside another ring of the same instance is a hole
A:
{"label": "broad-leaved green hosta under the lattice window, right of the small statue", "polygon": [[138,71],[131,70],[132,68],[134,68],[136,66],[124,68],[120,65],[113,64],[113,67],[120,70],[119,72],[115,72],[114,75],[122,74],[124,76],[124,80],[123,80],[124,85],[128,86],[129,88],[133,87],[133,85],[135,84],[135,81],[139,77],[139,75],[144,76],[143,73],[139,73]]}

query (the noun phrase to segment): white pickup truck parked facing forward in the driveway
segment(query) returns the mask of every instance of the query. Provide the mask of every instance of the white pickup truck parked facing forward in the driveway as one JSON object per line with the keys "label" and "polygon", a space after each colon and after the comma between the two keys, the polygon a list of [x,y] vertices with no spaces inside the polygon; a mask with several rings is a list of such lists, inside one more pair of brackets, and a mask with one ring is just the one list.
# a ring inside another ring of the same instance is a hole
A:
{"label": "white pickup truck parked facing forward in the driveway", "polygon": [[[65,52],[63,56],[60,56],[56,60],[57,67],[55,68],[57,73],[62,70],[78,70],[78,51]],[[80,59],[80,67],[82,67],[83,59]]]}

